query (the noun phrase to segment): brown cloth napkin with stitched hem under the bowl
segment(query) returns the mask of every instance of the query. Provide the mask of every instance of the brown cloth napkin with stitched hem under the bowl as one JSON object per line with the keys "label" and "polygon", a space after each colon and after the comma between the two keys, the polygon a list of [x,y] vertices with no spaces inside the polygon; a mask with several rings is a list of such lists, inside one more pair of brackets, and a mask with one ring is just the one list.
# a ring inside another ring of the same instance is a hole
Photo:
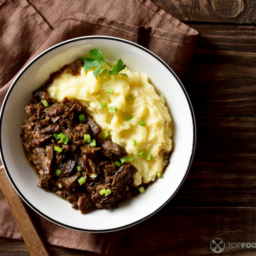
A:
{"label": "brown cloth napkin with stitched hem under the bowl", "polygon": [[[160,56],[182,79],[198,33],[150,0],[0,0],[0,104],[13,77],[30,59],[58,42],[89,35],[137,42]],[[0,236],[21,239],[1,191],[0,205]],[[52,245],[112,255],[123,235],[123,231],[77,232],[34,212],[33,216]]]}

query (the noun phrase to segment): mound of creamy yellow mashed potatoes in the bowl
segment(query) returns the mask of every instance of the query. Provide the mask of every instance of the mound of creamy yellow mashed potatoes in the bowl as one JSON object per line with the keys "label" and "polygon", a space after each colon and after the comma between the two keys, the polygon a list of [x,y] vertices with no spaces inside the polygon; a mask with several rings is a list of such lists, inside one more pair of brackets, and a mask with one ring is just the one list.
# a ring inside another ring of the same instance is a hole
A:
{"label": "mound of creamy yellow mashed potatoes in the bowl", "polygon": [[[54,80],[48,90],[57,102],[63,98],[75,98],[88,108],[88,113],[94,117],[96,123],[102,127],[102,137],[108,132],[113,142],[125,148],[128,156],[133,156],[131,162],[138,170],[133,176],[134,185],[154,181],[158,172],[162,173],[164,166],[164,152],[172,149],[171,117],[166,106],[164,96],[158,96],[154,86],[148,82],[148,75],[123,71],[123,75],[112,75],[98,79],[93,71],[84,71],[74,76],[64,72]],[[107,92],[113,89],[113,94]],[[133,102],[129,101],[133,97]],[[102,108],[101,103],[107,107]],[[108,113],[109,106],[117,106],[115,113]],[[125,117],[132,119],[125,121]],[[140,126],[144,121],[145,126]],[[137,146],[133,146],[132,139],[136,139]],[[147,161],[146,155],[137,157],[141,151],[152,154],[153,160]]]}

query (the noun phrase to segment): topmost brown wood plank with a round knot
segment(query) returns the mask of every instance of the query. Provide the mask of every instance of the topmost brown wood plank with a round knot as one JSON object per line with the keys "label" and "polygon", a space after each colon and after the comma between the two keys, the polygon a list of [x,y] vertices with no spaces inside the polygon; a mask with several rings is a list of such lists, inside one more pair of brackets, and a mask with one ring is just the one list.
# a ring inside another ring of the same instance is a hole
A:
{"label": "topmost brown wood plank with a round knot", "polygon": [[152,0],[175,18],[189,22],[255,23],[254,0]]}

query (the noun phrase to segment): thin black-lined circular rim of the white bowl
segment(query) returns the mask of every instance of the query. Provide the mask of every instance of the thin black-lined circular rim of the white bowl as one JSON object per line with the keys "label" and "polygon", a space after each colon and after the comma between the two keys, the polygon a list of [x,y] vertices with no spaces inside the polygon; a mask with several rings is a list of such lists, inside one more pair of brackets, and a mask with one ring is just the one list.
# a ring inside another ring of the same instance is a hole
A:
{"label": "thin black-lined circular rim of the white bowl", "polygon": [[[162,209],[162,207],[164,207],[164,205],[166,205],[170,199],[172,199],[172,197],[174,197],[174,195],[177,193],[177,191],[179,191],[179,189],[181,188],[181,185],[183,185],[183,182],[185,181],[187,174],[189,172],[189,168],[191,167],[192,161],[193,161],[193,156],[195,154],[195,143],[196,143],[196,125],[195,125],[195,115],[193,112],[193,107],[191,104],[191,101],[189,99],[189,96],[187,94],[187,91],[185,90],[183,84],[181,83],[179,77],[177,77],[176,73],[174,73],[174,71],[162,60],[160,59],[160,57],[158,57],[157,55],[155,55],[154,53],[152,53],[150,50],[144,48],[143,46],[140,46],[139,44],[136,44],[135,42],[130,42],[128,40],[124,40],[122,38],[115,38],[115,37],[111,37],[111,36],[82,36],[79,38],[73,38],[73,39],[69,39],[66,40],[64,42],[60,42],[59,44],[56,44],[54,46],[52,46],[50,49],[46,49],[46,51],[40,53],[40,55],[38,55],[37,57],[35,57],[34,59],[32,59],[32,61],[30,61],[30,63],[28,63],[28,65],[26,65],[24,67],[24,69],[22,69],[22,71],[18,74],[18,76],[15,78],[15,80],[13,81],[13,83],[11,84],[5,99],[3,101],[3,106],[1,108],[1,116],[0,116],[0,129],[1,129],[1,134],[2,134],[2,119],[3,119],[3,112],[5,110],[5,106],[7,103],[7,100],[9,98],[9,95],[11,94],[11,91],[13,90],[15,84],[18,82],[18,80],[20,79],[20,77],[23,75],[23,73],[34,63],[36,62],[38,59],[40,59],[42,56],[46,55],[47,53],[53,51],[54,49],[58,48],[59,46],[63,46],[64,44],[69,44],[75,41],[79,41],[79,40],[92,40],[92,39],[106,39],[106,40],[115,40],[115,41],[119,41],[119,42],[124,42],[126,44],[131,44],[132,46],[135,46],[139,49],[141,49],[142,51],[145,51],[146,53],[152,55],[155,59],[157,59],[158,61],[160,61],[160,63],[162,63],[162,65],[164,65],[164,67],[166,67],[166,69],[168,69],[168,71],[170,71],[170,73],[172,73],[172,75],[175,77],[175,79],[177,80],[177,82],[179,83],[179,85],[181,86],[186,98],[187,98],[187,102],[189,104],[189,108],[190,108],[190,112],[191,112],[191,118],[193,121],[193,146],[192,146],[192,152],[191,152],[191,157],[189,160],[189,164],[187,166],[187,171],[183,177],[183,180],[181,181],[179,187],[177,187],[177,189],[174,191],[174,193],[170,196],[170,198],[164,203],[162,204],[160,207],[158,207],[157,210],[155,210],[154,212],[152,212],[151,214],[149,214],[148,216],[145,216],[135,222],[132,222],[130,224],[124,225],[124,226],[119,226],[117,228],[109,228],[109,229],[104,229],[104,230],[90,230],[90,229],[84,229],[84,228],[77,228],[77,227],[73,227],[73,226],[69,226],[67,224],[63,224],[61,222],[58,222],[57,220],[53,220],[52,218],[50,218],[49,216],[46,216],[46,214],[40,212],[36,207],[34,207],[34,205],[32,205],[27,199],[26,197],[24,197],[24,195],[22,195],[22,193],[20,192],[20,190],[18,189],[18,187],[15,185],[15,183],[13,182],[13,179],[11,178],[11,175],[9,174],[9,170],[7,168],[7,165],[5,163],[5,159],[3,157],[3,149],[2,149],[2,143],[0,141],[0,150],[1,150],[1,159],[3,162],[3,166],[5,167],[5,172],[7,174],[7,177],[9,178],[9,181],[11,182],[11,185],[13,185],[15,191],[17,191],[17,193],[20,195],[20,197],[22,197],[22,199],[26,202],[27,205],[29,205],[35,212],[37,212],[38,214],[40,214],[41,216],[43,216],[44,218],[46,218],[47,220],[50,220],[51,222],[58,224],[59,226],[63,226],[65,228],[70,228],[73,230],[79,230],[79,231],[84,231],[84,232],[95,232],[95,233],[100,233],[100,232],[111,232],[111,231],[117,231],[117,230],[121,230],[124,228],[128,228],[130,226],[134,226],[135,224],[138,224],[139,222],[143,222],[143,220],[146,220],[148,218],[150,218],[151,216],[153,216],[154,214],[156,214],[156,212],[158,212],[159,210]],[[1,137],[0,134],[0,137]]]}

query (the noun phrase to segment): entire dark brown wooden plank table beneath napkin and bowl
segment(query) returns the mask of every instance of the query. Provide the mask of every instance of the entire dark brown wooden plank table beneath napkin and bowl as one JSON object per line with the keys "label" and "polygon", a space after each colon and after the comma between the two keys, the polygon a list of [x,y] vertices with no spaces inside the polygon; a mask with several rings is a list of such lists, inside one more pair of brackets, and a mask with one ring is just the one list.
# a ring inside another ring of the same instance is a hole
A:
{"label": "entire dark brown wooden plank table beneath napkin and bowl", "polygon": [[[127,229],[119,255],[256,255],[256,1],[154,0],[199,33],[185,88],[197,149],[185,183],[152,218]],[[239,245],[241,243],[241,246]],[[232,248],[234,247],[234,248]],[[52,255],[96,255],[50,247]],[[0,238],[0,255],[29,255]]]}

